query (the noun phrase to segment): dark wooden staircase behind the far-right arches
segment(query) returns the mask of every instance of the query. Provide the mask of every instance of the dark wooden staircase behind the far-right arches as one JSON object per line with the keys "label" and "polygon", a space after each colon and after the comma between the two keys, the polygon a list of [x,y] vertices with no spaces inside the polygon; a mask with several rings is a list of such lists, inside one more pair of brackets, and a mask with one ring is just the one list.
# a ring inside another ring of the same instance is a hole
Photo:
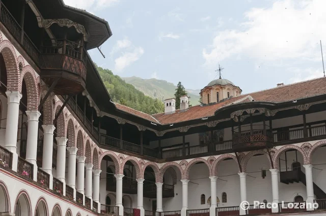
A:
{"label": "dark wooden staircase behind the far-right arches", "polygon": [[[285,184],[294,183],[301,181],[303,184],[306,185],[306,174],[301,171],[301,169],[293,170],[293,171],[286,171],[280,172],[281,182]],[[317,199],[326,199],[326,193],[321,190],[317,184],[313,182],[314,187],[314,194],[316,195]]]}

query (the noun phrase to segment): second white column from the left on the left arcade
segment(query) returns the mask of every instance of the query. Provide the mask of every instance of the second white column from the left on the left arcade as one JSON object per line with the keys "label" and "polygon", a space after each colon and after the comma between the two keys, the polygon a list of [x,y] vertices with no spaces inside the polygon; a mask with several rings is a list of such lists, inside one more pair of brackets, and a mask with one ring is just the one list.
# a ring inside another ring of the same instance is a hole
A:
{"label": "second white column from the left on the left arcade", "polygon": [[37,110],[26,111],[28,117],[28,131],[27,131],[27,142],[26,142],[26,161],[34,165],[33,180],[37,181],[37,136],[39,130],[39,117],[41,113]]}

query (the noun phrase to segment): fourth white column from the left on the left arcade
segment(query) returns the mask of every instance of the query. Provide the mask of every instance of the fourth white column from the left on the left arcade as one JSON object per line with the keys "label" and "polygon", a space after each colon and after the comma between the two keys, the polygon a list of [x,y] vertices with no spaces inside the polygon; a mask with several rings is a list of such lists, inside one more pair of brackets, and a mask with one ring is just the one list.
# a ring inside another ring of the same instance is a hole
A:
{"label": "fourth white column from the left on the left arcade", "polygon": [[56,137],[57,140],[57,179],[63,183],[63,195],[66,196],[66,137]]}

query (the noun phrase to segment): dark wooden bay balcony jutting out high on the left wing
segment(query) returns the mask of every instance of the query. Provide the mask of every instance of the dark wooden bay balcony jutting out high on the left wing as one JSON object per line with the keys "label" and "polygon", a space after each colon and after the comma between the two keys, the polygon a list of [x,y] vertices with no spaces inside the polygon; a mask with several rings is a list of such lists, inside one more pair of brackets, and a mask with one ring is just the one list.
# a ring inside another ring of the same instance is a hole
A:
{"label": "dark wooden bay balcony jutting out high on the left wing", "polygon": [[76,95],[85,89],[87,72],[83,47],[68,40],[45,40],[40,52],[42,80],[51,86],[59,79],[53,90],[56,95]]}

